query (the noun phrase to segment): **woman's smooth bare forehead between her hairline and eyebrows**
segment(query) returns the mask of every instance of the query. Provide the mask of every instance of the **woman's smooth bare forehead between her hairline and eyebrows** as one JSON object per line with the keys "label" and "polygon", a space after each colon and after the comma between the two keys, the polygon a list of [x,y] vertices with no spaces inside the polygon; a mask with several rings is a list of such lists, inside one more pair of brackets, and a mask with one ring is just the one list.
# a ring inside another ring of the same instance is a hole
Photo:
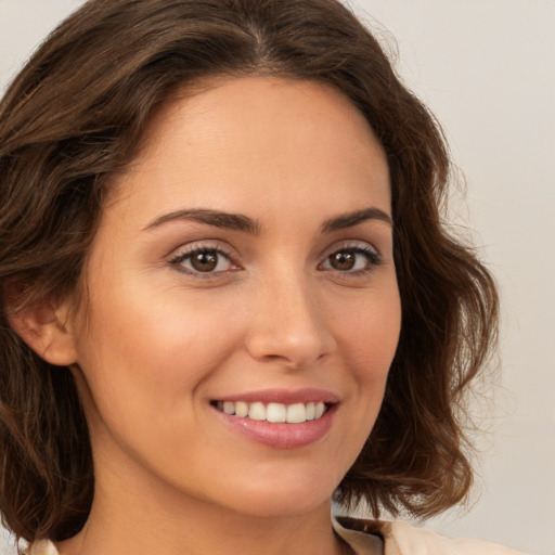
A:
{"label": "woman's smooth bare forehead between her hairline and eyebrows", "polygon": [[229,78],[179,91],[118,181],[124,197],[159,210],[186,201],[244,211],[245,197],[279,207],[324,193],[331,205],[390,204],[385,154],[364,116],[332,86],[294,79]]}

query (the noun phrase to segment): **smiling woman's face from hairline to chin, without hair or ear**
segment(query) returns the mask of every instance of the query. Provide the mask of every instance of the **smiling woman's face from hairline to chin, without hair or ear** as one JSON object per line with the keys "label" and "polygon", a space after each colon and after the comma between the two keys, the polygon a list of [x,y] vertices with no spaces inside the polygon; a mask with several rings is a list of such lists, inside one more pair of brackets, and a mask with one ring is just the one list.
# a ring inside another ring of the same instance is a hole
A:
{"label": "smiling woman's face from hairline to chin, without hair or ear", "polygon": [[387,163],[332,88],[211,85],[156,115],[88,260],[96,490],[307,512],[359,454],[397,346]]}

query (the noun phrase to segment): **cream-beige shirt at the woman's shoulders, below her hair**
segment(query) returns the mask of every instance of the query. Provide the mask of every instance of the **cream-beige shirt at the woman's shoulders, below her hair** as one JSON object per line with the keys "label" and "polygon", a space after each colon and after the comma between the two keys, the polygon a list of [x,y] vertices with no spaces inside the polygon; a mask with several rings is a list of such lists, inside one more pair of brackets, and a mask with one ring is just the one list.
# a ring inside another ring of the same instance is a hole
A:
{"label": "cream-beige shirt at the woman's shoulders, below her hair", "polygon": [[[524,555],[479,540],[449,540],[405,522],[338,517],[335,531],[357,555]],[[60,555],[49,541],[34,543],[27,555]]]}

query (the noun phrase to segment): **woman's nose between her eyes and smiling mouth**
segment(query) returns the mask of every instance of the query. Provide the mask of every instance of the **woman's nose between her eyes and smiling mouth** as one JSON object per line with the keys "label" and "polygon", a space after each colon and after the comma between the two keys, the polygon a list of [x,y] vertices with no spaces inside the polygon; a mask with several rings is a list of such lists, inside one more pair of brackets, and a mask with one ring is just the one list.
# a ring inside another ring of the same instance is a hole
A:
{"label": "woman's nose between her eyes and smiling mouth", "polygon": [[274,279],[258,288],[246,336],[249,354],[288,369],[314,364],[336,348],[330,314],[318,299],[318,285],[301,278]]}

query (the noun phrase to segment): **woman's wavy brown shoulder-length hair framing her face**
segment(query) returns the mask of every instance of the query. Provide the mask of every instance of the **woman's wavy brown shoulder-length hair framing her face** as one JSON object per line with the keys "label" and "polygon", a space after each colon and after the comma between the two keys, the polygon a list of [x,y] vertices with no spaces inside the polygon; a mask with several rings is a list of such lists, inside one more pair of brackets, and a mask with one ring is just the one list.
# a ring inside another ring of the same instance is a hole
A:
{"label": "woman's wavy brown shoulder-length hair framing her face", "polygon": [[35,354],[10,313],[75,292],[108,178],[156,107],[201,78],[247,75],[336,87],[389,164],[401,336],[380,414],[338,500],[425,517],[468,492],[464,399],[494,344],[496,289],[442,222],[441,129],[374,36],[338,0],[91,0],[0,104],[0,511],[17,537],[76,534],[94,476],[70,371]]}

